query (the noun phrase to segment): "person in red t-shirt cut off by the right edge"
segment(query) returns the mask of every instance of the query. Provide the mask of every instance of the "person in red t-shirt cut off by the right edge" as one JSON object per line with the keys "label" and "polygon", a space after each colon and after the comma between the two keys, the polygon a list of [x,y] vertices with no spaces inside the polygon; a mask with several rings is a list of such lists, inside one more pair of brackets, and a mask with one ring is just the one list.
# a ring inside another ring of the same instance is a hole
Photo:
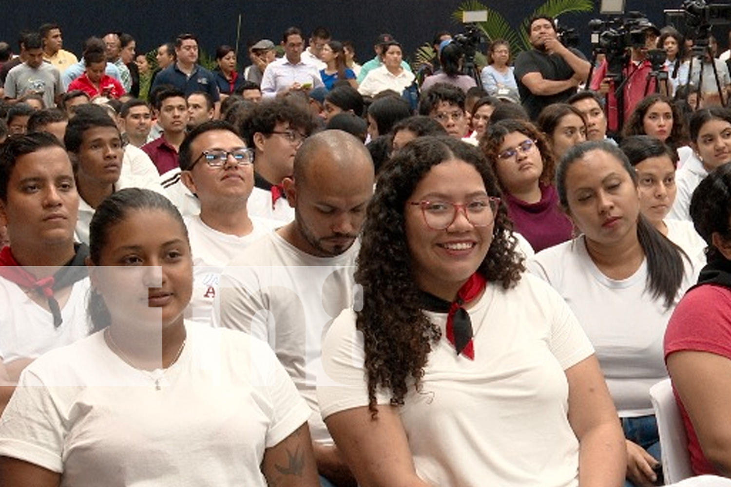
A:
{"label": "person in red t-shirt cut off by the right edge", "polygon": [[690,215],[708,244],[708,264],[675,308],[665,361],[688,433],[693,472],[730,476],[728,386],[731,368],[731,165],[700,182]]}

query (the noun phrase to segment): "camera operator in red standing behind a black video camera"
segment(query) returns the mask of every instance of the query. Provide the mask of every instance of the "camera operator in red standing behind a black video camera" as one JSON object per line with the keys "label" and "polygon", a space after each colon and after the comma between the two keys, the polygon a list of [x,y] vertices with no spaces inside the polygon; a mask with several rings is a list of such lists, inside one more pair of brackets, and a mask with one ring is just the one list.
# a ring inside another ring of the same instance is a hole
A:
{"label": "camera operator in red standing behind a black video camera", "polygon": [[[648,50],[656,48],[657,37],[660,31],[649,21],[639,25],[645,34],[645,45],[629,47],[629,59],[622,68],[621,83],[624,83],[623,93],[623,115],[622,122],[626,122],[629,115],[635,110],[635,106],[645,96],[657,91],[657,79],[652,77],[653,66],[648,59]],[[607,97],[607,119],[609,120],[610,131],[619,131],[620,114],[618,113],[618,102],[616,97],[617,84],[613,77],[608,76],[609,64],[604,59],[602,64],[596,68],[591,78],[591,89],[599,91]],[[662,88],[662,87],[661,87]],[[664,86],[667,91],[667,85]],[[667,94],[666,92],[662,92]]]}

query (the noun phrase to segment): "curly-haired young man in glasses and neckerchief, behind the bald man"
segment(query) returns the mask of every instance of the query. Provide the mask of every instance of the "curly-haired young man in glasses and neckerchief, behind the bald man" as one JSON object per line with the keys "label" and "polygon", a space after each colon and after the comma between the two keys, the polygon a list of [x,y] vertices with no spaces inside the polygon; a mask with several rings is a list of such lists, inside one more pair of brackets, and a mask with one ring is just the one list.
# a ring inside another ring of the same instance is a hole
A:
{"label": "curly-haired young man in glasses and neckerchief, behind the bald man", "polygon": [[239,132],[246,147],[254,149],[249,215],[287,222],[295,218],[282,181],[292,176],[295,155],[311,130],[309,113],[288,99],[262,101],[243,120]]}

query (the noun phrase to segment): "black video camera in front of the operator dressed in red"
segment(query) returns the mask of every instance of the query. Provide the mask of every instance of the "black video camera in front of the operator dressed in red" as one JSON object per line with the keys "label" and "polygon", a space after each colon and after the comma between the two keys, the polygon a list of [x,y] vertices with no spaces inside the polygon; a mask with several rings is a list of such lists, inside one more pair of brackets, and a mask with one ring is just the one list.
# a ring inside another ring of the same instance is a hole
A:
{"label": "black video camera in front of the operator dressed in red", "polygon": [[645,47],[645,33],[648,27],[654,26],[640,12],[629,12],[625,18],[594,19],[589,22],[594,55],[606,56],[607,76],[621,77],[628,55],[627,48]]}

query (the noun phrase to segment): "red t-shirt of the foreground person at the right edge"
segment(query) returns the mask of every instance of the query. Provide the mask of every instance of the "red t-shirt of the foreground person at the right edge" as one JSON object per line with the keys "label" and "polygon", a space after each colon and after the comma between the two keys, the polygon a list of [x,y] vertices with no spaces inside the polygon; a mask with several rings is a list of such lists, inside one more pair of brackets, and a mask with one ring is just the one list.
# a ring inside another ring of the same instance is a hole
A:
{"label": "red t-shirt of the foreground person at the right edge", "polygon": [[[700,285],[683,296],[667,323],[664,347],[666,361],[670,353],[681,350],[710,352],[731,359],[731,289]],[[693,424],[677,391],[674,392],[688,433],[693,472],[719,475],[703,456]]]}

